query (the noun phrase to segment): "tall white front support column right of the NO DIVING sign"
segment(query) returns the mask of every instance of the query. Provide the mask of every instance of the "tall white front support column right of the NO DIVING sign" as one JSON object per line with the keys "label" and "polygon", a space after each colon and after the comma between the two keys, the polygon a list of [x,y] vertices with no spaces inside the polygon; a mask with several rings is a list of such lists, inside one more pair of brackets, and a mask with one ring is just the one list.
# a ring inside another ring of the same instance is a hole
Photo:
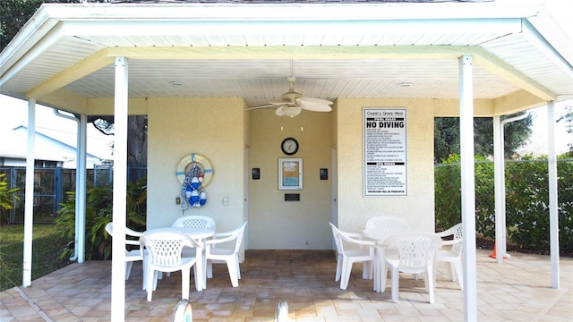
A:
{"label": "tall white front support column right of the NO DIVING sign", "polygon": [[474,82],[472,56],[459,58],[459,148],[464,227],[464,320],[477,320],[475,260]]}

